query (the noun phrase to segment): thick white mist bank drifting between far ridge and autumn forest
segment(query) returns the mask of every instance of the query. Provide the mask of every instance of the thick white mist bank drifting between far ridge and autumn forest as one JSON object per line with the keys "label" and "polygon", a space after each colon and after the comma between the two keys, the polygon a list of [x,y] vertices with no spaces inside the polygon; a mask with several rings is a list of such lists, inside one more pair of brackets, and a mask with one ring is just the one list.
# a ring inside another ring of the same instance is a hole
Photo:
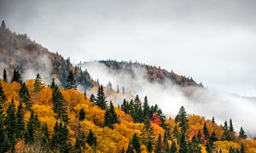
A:
{"label": "thick white mist bank drifting between far ridge and autumn forest", "polygon": [[[82,65],[82,69],[87,69],[91,77],[99,79],[100,84],[104,86],[111,82],[116,90],[119,84],[120,91],[124,87],[126,92],[138,94],[142,101],[144,96],[148,96],[149,105],[159,105],[166,116],[176,116],[183,105],[189,114],[206,116],[207,119],[214,116],[218,124],[223,124],[231,118],[237,133],[242,126],[251,138],[256,134],[256,125],[252,122],[256,118],[256,102],[253,99],[211,88],[181,88],[167,79],[161,84],[148,82],[146,70],[141,67],[131,67],[133,74],[122,69],[113,71],[97,62]],[[112,100],[115,105],[122,103],[122,99]]]}

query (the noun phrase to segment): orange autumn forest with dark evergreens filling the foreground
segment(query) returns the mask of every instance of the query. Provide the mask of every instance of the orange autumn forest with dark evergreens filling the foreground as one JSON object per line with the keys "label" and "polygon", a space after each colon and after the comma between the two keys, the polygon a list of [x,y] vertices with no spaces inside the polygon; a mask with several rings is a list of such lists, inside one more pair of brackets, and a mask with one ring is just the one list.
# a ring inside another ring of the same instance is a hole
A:
{"label": "orange autumn forest with dark evergreens filling the foreground", "polygon": [[[106,100],[104,87],[96,95],[76,90],[72,71],[65,88],[35,79],[21,81],[19,71],[0,81],[0,152],[154,152],[250,153],[256,140],[247,139],[232,120],[218,125],[204,116],[166,118],[148,99],[124,99],[117,107]],[[109,104],[109,105],[108,105]]]}

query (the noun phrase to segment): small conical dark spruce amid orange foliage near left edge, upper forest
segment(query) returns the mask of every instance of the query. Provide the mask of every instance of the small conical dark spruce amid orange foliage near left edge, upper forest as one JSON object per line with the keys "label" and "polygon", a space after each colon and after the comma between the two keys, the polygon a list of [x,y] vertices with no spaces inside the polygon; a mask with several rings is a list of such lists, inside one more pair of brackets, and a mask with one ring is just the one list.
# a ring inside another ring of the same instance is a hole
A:
{"label": "small conical dark spruce amid orange foliage near left edge, upper forest", "polygon": [[21,85],[19,95],[20,95],[20,102],[26,105],[26,111],[31,111],[32,102],[30,99],[30,94],[28,92],[28,89],[26,88],[25,82],[23,82]]}

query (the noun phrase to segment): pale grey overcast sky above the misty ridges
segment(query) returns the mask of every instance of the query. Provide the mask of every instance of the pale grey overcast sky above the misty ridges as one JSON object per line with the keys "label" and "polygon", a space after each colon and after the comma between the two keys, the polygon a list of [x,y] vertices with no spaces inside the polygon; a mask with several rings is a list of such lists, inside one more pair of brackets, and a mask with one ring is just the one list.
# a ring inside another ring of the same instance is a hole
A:
{"label": "pale grey overcast sky above the misty ridges", "polygon": [[160,65],[256,96],[255,0],[0,0],[0,20],[73,63]]}

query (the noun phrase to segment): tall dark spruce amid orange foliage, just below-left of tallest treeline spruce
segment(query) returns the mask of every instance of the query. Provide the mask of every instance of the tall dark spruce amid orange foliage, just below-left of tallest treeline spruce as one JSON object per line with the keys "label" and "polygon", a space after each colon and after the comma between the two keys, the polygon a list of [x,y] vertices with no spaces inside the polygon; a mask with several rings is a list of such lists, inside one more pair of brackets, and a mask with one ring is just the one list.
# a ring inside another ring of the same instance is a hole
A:
{"label": "tall dark spruce amid orange foliage, just below-left of tallest treeline spruce", "polygon": [[63,122],[68,122],[67,106],[59,88],[54,88],[52,93],[53,111],[57,114],[56,118]]}

